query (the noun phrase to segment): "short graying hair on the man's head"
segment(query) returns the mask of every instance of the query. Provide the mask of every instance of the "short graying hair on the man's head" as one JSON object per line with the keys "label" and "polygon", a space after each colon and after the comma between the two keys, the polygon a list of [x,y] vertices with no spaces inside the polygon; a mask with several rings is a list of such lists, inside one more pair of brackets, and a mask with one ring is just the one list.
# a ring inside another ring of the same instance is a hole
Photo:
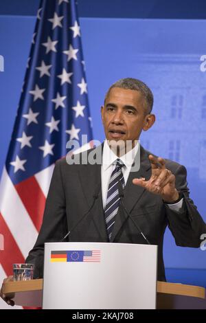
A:
{"label": "short graying hair on the man's head", "polygon": [[109,96],[109,93],[113,87],[119,87],[120,89],[130,89],[141,92],[142,96],[144,97],[144,100],[146,102],[146,109],[147,113],[151,113],[152,107],[153,107],[153,94],[150,88],[144,83],[141,82],[141,80],[137,80],[136,78],[121,78],[120,80],[117,80],[106,92],[106,96],[104,99],[104,102]]}

